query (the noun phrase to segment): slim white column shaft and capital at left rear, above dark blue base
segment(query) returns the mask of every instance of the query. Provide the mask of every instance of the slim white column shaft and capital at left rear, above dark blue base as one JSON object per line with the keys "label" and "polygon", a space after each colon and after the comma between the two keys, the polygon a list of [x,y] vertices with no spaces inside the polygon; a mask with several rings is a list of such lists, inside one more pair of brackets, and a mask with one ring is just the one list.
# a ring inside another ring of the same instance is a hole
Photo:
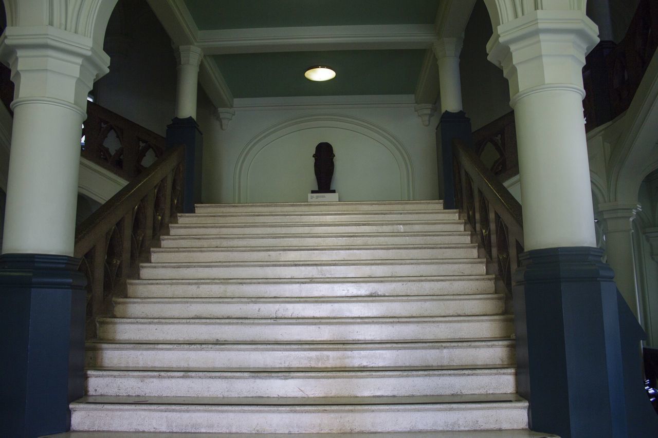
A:
{"label": "slim white column shaft and capital at left rear, above dark blue base", "polygon": [[178,61],[178,88],[176,89],[176,117],[197,118],[197,83],[203,52],[193,45],[174,49]]}

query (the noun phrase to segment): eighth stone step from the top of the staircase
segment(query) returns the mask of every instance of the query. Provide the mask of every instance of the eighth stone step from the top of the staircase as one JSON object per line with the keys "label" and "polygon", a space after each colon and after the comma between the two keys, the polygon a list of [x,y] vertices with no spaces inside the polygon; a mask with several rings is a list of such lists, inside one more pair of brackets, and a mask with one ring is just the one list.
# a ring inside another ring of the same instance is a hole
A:
{"label": "eighth stone step from the top of the staircase", "polygon": [[114,299],[118,318],[365,318],[493,315],[497,294],[408,297],[128,298]]}

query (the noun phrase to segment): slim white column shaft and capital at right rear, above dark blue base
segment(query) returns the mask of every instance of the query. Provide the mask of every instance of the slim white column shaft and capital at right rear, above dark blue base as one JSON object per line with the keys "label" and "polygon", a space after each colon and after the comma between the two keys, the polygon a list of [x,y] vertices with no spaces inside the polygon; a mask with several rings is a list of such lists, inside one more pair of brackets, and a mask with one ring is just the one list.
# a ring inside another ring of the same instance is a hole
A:
{"label": "slim white column shaft and capital at right rear, above dark blue base", "polygon": [[459,76],[459,54],[462,46],[462,38],[441,38],[432,46],[439,66],[441,112],[460,112],[463,109]]}

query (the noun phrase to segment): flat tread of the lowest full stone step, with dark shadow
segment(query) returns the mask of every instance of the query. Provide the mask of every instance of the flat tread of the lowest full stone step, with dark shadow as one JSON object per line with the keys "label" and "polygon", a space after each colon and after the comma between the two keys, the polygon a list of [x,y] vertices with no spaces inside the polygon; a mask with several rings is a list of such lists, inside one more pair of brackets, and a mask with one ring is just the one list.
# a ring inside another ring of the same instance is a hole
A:
{"label": "flat tread of the lowest full stone step, with dark shadow", "polygon": [[88,404],[130,404],[134,406],[174,405],[185,410],[186,406],[212,408],[213,406],[333,406],[335,408],[355,408],[365,406],[398,406],[413,408],[424,404],[513,404],[527,406],[528,402],[516,394],[476,394],[476,395],[431,395],[401,397],[132,397],[88,395],[71,404],[72,409]]}

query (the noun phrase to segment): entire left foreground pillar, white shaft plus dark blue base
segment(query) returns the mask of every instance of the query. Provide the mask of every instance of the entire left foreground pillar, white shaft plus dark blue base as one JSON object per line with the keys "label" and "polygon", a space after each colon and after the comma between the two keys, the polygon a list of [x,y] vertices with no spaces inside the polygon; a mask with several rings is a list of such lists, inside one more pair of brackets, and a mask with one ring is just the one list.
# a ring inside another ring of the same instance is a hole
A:
{"label": "entire left foreground pillar, white shaft plus dark blue base", "polygon": [[86,279],[72,258],[80,137],[87,94],[109,57],[91,37],[52,26],[9,26],[0,57],[16,85],[0,256],[0,435],[33,437],[68,430],[68,404],[84,395]]}

